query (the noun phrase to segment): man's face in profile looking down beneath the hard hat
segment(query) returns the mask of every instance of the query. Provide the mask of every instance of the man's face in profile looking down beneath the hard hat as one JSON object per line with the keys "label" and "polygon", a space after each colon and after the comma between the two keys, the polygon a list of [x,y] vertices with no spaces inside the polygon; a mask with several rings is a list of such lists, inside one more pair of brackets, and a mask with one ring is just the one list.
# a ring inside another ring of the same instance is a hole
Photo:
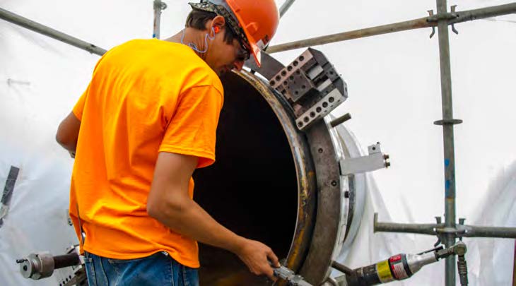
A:
{"label": "man's face in profile looking down beneath the hard hat", "polygon": [[229,31],[222,28],[221,32],[215,35],[215,39],[211,41],[211,52],[206,57],[206,61],[219,76],[232,69],[240,71],[244,66],[244,61],[249,59],[248,50],[240,44],[237,38],[233,39],[231,44],[225,42],[225,32]]}

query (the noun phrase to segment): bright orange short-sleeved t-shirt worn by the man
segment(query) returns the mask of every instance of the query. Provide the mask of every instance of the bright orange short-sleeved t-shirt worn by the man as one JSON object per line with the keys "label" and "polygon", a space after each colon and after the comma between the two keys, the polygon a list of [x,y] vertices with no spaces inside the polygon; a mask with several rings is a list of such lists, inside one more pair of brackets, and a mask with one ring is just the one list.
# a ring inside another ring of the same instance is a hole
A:
{"label": "bright orange short-sleeved t-shirt worn by the man", "polygon": [[[83,250],[116,259],[167,251],[199,267],[197,242],[151,218],[146,204],[159,152],[214,162],[222,105],[220,79],[187,46],[132,40],[102,56],[73,110],[81,129],[69,209],[78,235],[80,213]],[[191,198],[193,189],[190,179]]]}

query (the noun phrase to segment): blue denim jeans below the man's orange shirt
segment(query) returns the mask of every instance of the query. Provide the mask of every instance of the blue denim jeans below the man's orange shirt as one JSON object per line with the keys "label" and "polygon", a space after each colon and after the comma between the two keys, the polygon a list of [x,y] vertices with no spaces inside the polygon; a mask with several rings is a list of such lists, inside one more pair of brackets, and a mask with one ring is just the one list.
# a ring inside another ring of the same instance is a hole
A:
{"label": "blue denim jeans below the man's orange shirt", "polygon": [[163,252],[119,260],[85,251],[84,262],[90,286],[199,286],[196,268],[183,266]]}

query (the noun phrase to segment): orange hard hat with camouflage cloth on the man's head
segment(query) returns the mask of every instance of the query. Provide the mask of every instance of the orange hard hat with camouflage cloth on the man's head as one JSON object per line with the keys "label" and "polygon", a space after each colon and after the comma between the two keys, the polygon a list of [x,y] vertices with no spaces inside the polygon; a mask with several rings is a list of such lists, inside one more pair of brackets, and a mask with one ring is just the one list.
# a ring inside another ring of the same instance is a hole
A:
{"label": "orange hard hat with camouflage cloth on the man's head", "polygon": [[[261,66],[260,52],[271,41],[279,23],[279,13],[274,0],[204,0],[190,3],[192,8],[215,12],[225,16],[229,12],[234,19],[228,18],[230,26],[248,45],[258,66]],[[226,11],[223,11],[226,10]],[[228,11],[229,10],[229,11]],[[232,23],[232,20],[238,23]],[[232,25],[233,24],[233,25]],[[244,35],[241,35],[241,34]]]}

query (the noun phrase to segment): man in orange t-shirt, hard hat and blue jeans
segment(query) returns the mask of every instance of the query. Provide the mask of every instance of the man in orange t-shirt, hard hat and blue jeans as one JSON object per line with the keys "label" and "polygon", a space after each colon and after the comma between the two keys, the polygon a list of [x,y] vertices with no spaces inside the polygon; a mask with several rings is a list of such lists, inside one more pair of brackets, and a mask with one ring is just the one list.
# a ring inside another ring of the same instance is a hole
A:
{"label": "man in orange t-shirt, hard hat and blue jeans", "polygon": [[167,40],[132,40],[98,61],[56,139],[75,155],[70,216],[93,285],[198,285],[197,241],[274,279],[278,258],[218,224],[193,198],[215,160],[218,75],[240,71],[276,32],[273,0],[191,3]]}

